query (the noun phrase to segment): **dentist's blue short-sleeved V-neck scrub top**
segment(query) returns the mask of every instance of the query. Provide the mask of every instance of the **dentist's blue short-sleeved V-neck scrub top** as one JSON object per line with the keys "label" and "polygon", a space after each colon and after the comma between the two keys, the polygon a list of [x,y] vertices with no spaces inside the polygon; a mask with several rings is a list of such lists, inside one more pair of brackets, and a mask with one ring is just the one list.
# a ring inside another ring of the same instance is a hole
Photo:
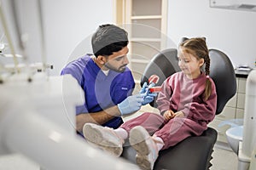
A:
{"label": "dentist's blue short-sleeved V-neck scrub top", "polygon": [[[91,59],[89,54],[73,60],[61,71],[61,75],[71,74],[84,89],[84,105],[76,107],[76,115],[93,113],[117,105],[132,94],[135,82],[131,71],[109,70],[106,76]],[[121,117],[114,117],[102,126],[117,128],[123,123]]]}

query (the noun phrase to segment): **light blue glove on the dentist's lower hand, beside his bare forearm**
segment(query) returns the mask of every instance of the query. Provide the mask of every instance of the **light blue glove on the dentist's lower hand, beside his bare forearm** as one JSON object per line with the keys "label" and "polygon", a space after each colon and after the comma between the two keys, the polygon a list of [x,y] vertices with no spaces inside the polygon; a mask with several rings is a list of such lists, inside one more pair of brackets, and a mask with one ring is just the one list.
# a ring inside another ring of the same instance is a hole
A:
{"label": "light blue glove on the dentist's lower hand, beside his bare forearm", "polygon": [[131,114],[135,111],[141,109],[143,105],[144,97],[146,94],[136,94],[129,96],[124,101],[118,104],[119,111],[121,112],[121,116]]}

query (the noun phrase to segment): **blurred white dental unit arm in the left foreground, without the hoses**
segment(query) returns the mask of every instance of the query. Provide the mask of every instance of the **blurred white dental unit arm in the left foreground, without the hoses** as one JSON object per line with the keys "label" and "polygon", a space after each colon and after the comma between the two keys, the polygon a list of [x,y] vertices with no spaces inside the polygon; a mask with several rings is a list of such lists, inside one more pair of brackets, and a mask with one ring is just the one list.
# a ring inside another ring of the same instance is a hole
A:
{"label": "blurred white dental unit arm in the left foreground, without the hoses", "polygon": [[[70,75],[22,75],[0,84],[0,156],[21,153],[45,169],[137,169],[88,145],[75,133],[84,94]],[[99,163],[100,162],[100,163]]]}

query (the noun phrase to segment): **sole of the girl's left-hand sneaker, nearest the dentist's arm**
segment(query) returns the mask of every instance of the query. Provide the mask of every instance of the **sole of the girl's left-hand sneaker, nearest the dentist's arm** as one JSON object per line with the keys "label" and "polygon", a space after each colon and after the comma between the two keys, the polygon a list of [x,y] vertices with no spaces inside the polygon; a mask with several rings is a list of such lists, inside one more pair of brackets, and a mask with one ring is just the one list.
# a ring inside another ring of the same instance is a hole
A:
{"label": "sole of the girl's left-hand sneaker, nearest the dentist's arm", "polygon": [[101,148],[102,150],[108,151],[113,156],[119,157],[122,152],[122,146],[115,144],[111,141],[105,140],[103,138],[102,131],[97,127],[93,127],[91,124],[85,124],[83,128],[84,138],[87,139],[88,143]]}

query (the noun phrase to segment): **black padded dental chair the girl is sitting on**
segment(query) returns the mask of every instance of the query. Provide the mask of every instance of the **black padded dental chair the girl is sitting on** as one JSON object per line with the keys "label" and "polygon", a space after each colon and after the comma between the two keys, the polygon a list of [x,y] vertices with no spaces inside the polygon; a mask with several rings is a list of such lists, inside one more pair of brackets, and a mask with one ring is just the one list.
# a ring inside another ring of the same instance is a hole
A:
{"label": "black padded dental chair the girl is sitting on", "polygon": [[[236,94],[236,76],[233,65],[226,54],[217,49],[210,49],[209,55],[211,59],[210,77],[215,82],[218,95],[216,111],[216,115],[218,115],[223,111],[228,100]],[[156,84],[160,86],[166,77],[180,71],[177,62],[177,49],[175,48],[168,48],[156,54],[143,73],[141,85],[143,85],[143,82],[148,82],[148,78],[155,74],[160,77]],[[157,106],[155,101],[150,105]],[[159,157],[154,163],[154,170],[209,169],[212,166],[210,161],[212,160],[213,146],[216,143],[217,135],[215,129],[208,127],[201,136],[191,136],[167,150],[160,150]],[[131,146],[128,145],[124,148],[122,156],[136,163],[136,151]]]}

